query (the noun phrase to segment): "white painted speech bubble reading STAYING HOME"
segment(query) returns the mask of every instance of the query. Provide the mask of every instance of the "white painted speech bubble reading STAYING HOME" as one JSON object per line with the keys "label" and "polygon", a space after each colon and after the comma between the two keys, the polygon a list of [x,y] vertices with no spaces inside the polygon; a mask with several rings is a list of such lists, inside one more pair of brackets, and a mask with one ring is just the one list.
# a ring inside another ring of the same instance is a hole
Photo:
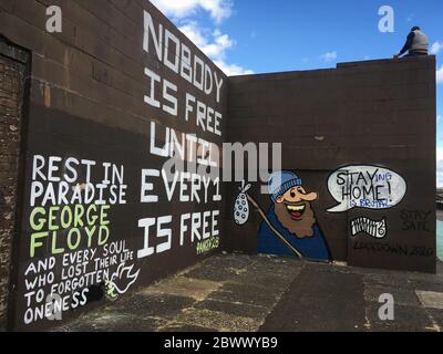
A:
{"label": "white painted speech bubble reading STAYING HOME", "polygon": [[383,210],[400,204],[406,195],[406,181],[393,170],[351,165],[329,176],[328,189],[338,202],[328,212],[344,212],[353,208]]}

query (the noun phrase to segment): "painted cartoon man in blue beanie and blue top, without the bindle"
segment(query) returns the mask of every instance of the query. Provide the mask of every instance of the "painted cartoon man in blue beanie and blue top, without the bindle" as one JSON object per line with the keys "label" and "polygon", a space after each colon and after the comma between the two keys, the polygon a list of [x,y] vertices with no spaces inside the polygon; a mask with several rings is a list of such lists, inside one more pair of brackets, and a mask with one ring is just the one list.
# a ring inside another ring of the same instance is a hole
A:
{"label": "painted cartoon man in blue beanie and blue top, without the bindle", "polygon": [[[307,192],[301,179],[291,171],[272,174],[268,189],[272,205],[266,216],[271,226],[305,258],[329,261],[329,248],[311,207],[318,195]],[[267,222],[261,222],[258,231],[258,251],[266,254],[292,256],[290,248],[275,233]]]}

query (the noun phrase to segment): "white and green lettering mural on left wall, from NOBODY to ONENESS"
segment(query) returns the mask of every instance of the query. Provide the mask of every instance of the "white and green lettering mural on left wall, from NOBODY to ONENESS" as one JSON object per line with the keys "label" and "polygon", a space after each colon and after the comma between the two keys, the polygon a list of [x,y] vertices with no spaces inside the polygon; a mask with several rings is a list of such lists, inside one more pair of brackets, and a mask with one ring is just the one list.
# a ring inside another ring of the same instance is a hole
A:
{"label": "white and green lettering mural on left wall, from NOBODY to ONENESS", "polygon": [[16,329],[56,325],[220,247],[226,75],[165,21],[138,12],[137,129],[130,115],[115,127],[32,106],[44,129],[30,129]]}

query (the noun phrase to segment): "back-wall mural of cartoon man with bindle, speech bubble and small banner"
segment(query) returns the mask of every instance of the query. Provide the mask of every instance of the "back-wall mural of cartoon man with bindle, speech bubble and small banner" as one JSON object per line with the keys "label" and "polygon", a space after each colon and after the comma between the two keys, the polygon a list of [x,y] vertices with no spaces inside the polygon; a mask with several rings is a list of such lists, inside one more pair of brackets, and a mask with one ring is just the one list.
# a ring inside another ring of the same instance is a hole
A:
{"label": "back-wall mural of cartoon man with bindle, speech bubble and small banner", "polygon": [[[372,211],[391,209],[402,202],[408,189],[402,176],[377,165],[340,167],[328,176],[327,187],[338,202],[326,210],[329,214],[343,214],[354,208]],[[234,220],[237,226],[243,226],[248,221],[251,209],[259,214],[262,220],[257,235],[260,253],[332,259],[312,208],[318,192],[306,190],[296,173],[284,170],[271,175],[267,186],[271,204],[267,209],[249,195],[250,184],[244,181],[238,189]],[[411,218],[415,221],[412,222]],[[402,214],[404,227],[409,228],[423,228],[425,218],[426,214],[421,212]],[[349,233],[352,239],[358,236],[384,239],[388,236],[388,218],[358,217],[349,222]]]}

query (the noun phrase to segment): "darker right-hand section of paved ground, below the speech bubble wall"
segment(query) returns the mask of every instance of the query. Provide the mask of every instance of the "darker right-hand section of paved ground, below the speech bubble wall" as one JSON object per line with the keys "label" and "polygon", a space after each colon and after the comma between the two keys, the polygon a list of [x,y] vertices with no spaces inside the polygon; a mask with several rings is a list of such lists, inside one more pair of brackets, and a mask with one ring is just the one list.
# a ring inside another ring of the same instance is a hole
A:
{"label": "darker right-hand section of paved ground, below the speech bubble wall", "polygon": [[[260,331],[441,331],[443,311],[416,292],[443,293],[442,271],[441,263],[437,275],[307,263]],[[384,293],[394,298],[394,321],[379,319]]]}

